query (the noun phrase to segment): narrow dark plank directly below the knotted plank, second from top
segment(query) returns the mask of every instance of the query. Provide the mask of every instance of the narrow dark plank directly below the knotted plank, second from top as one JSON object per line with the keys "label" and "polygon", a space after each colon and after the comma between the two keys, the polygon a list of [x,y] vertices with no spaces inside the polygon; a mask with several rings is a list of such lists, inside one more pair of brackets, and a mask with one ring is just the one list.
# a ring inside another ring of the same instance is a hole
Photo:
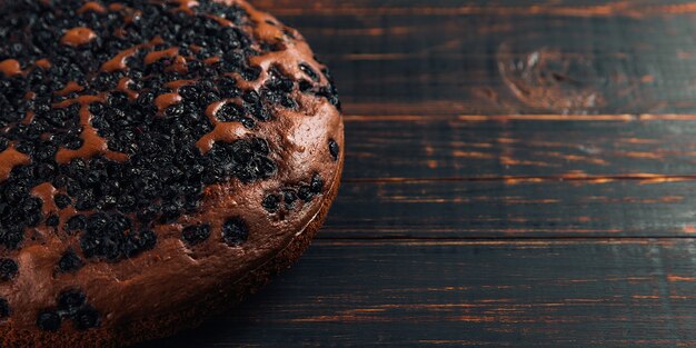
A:
{"label": "narrow dark plank directly below the knotted plank, second from top", "polygon": [[348,116],[346,138],[347,179],[696,173],[687,115]]}

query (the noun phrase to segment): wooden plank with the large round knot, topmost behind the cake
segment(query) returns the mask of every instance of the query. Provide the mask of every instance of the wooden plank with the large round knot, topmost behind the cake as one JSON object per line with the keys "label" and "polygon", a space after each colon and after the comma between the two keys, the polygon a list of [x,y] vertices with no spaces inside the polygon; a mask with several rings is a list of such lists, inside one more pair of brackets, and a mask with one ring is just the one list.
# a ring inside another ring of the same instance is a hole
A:
{"label": "wooden plank with the large round knot, topmost behind the cake", "polygon": [[693,1],[257,2],[327,60],[348,113],[696,112]]}

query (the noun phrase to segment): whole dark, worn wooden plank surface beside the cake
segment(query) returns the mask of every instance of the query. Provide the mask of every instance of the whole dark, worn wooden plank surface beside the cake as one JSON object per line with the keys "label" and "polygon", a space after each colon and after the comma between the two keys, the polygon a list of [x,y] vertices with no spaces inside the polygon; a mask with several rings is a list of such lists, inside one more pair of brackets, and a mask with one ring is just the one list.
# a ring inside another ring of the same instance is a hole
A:
{"label": "whole dark, worn wooden plank surface beside the cake", "polygon": [[696,2],[257,0],[332,68],[309,252],[143,347],[696,346]]}

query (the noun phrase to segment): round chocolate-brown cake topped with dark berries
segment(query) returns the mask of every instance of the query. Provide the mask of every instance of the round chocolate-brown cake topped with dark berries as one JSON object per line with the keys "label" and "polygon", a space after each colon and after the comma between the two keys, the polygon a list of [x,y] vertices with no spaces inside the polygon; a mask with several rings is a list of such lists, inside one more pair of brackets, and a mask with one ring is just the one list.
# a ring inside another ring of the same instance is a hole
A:
{"label": "round chocolate-brown cake topped with dark berries", "polygon": [[305,39],[241,0],[0,0],[0,346],[112,347],[241,300],[342,168]]}

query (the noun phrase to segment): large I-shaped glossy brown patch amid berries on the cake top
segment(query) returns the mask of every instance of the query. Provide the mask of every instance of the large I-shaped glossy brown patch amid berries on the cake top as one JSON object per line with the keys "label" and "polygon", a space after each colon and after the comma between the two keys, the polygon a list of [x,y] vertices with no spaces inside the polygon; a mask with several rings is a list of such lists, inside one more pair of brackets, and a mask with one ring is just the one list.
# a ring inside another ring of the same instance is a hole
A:
{"label": "large I-shaped glossy brown patch amid berries on the cake top", "polygon": [[106,99],[106,93],[101,93],[99,96],[80,96],[78,98],[53,105],[54,108],[67,108],[72,103],[80,103],[80,126],[82,126],[82,133],[80,135],[80,138],[82,138],[83,141],[82,146],[77,150],[66,148],[59,149],[58,153],[56,153],[57,162],[64,165],[76,158],[92,158],[99,155],[118,162],[125,162],[128,160],[128,156],[126,153],[109,150],[107,140],[99,137],[97,129],[91,125],[92,113],[89,111],[89,105],[92,102],[105,102]]}

